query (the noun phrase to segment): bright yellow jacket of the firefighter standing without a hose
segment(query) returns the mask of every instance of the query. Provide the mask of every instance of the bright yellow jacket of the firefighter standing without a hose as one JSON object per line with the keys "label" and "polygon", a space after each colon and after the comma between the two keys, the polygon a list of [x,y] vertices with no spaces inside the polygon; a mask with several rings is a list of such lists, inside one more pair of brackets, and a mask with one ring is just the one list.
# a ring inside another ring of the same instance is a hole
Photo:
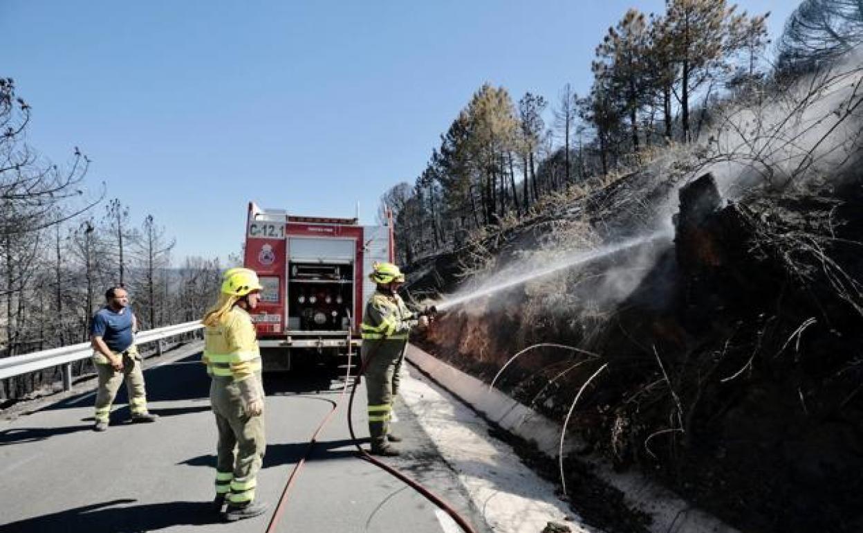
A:
{"label": "bright yellow jacket of the firefighter standing without a hose", "polygon": [[215,327],[204,332],[204,356],[211,376],[243,381],[261,371],[261,350],[255,324],[245,309],[234,306]]}

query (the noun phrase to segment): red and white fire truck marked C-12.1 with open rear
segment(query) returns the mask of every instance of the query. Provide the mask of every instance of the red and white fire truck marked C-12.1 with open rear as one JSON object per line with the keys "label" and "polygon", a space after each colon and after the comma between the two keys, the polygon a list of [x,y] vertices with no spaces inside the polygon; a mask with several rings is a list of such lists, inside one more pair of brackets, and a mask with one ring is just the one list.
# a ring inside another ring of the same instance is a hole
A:
{"label": "red and white fire truck marked C-12.1 with open rear", "polygon": [[[375,291],[369,273],[394,258],[393,223],[300,217],[249,202],[244,265],[261,280],[252,320],[264,371],[293,365],[339,365],[356,354],[365,302]],[[302,358],[302,359],[299,359]]]}

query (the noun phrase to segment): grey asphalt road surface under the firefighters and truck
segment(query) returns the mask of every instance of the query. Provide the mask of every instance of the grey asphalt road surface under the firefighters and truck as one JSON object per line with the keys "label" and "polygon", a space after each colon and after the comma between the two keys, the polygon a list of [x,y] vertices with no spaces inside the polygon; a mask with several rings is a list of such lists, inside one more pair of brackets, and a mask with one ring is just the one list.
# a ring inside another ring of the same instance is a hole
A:
{"label": "grey asphalt road surface under the firefighters and truck", "polygon": [[[166,359],[170,356],[166,356]],[[306,370],[268,379],[268,449],[258,477],[262,517],[222,523],[211,511],[216,428],[209,378],[196,353],[151,363],[145,377],[153,424],[129,424],[116,409],[94,433],[91,392],[0,422],[0,533],[267,530],[275,504],[318,423],[340,400],[341,381]],[[117,404],[125,402],[121,391]],[[444,497],[478,532],[487,526],[455,473],[402,404],[397,428],[406,454],[387,462]],[[318,437],[276,531],[455,533],[457,526],[413,489],[356,457],[347,399]],[[368,437],[365,390],[357,390],[357,436]]]}

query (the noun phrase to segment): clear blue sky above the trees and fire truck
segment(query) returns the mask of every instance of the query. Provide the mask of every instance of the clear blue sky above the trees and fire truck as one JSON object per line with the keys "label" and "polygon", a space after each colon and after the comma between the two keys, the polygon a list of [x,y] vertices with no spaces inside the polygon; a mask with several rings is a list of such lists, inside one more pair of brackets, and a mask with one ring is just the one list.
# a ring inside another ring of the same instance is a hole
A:
{"label": "clear blue sky above the trees and fire truck", "polygon": [[[772,11],[772,37],[796,2]],[[375,222],[483,82],[552,102],[590,84],[595,45],[661,0],[250,2],[0,0],[0,76],[33,107],[28,141],[74,146],[91,191],[148,214],[174,256],[226,257],[246,204]],[[101,214],[100,207],[96,213]]]}

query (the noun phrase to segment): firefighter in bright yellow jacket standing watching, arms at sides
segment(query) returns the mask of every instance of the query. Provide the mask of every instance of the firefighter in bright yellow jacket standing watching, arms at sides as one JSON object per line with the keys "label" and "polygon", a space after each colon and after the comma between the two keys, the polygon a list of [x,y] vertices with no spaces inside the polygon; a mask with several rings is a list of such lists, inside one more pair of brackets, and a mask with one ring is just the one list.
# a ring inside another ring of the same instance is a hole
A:
{"label": "firefighter in bright yellow jacket standing watching, arms at sides", "polygon": [[265,504],[255,501],[256,476],[267,444],[261,352],[249,316],[260,291],[254,271],[227,270],[217,304],[201,320],[205,325],[202,360],[212,380],[210,403],[218,430],[213,503],[230,522],[267,511]]}

